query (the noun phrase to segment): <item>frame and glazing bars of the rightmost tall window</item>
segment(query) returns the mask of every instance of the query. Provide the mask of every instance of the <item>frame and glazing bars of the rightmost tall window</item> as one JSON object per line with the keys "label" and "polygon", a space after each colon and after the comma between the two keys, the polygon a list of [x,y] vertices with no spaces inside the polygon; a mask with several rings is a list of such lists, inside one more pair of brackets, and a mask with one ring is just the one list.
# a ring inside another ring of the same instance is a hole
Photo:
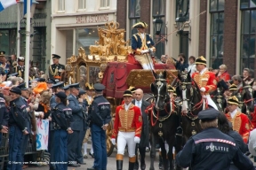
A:
{"label": "frame and glazing bars of the rightmost tall window", "polygon": [[[256,12],[256,6],[251,7],[250,4],[249,4],[250,2],[251,1],[248,0],[247,7],[243,7],[242,6],[243,5],[242,1],[240,2],[240,11],[241,11],[241,32],[240,32],[240,42],[241,43],[240,43],[240,52],[239,52],[239,63],[240,63],[239,72],[240,73],[242,73],[243,69],[246,68],[246,67],[250,68],[252,70],[255,70],[255,62],[256,62],[256,60],[255,60],[255,57],[256,57],[256,55],[255,55],[255,50],[256,50],[256,48],[255,48],[255,39],[256,39],[255,38],[255,32],[256,32],[256,30],[254,29],[254,31],[252,31],[252,11]],[[245,15],[245,12],[249,12],[249,17],[250,17],[249,18],[249,25],[247,25],[249,27],[248,32],[244,31],[244,24],[245,24],[244,23],[245,22],[244,15]],[[244,50],[244,35],[248,36],[248,37],[254,37],[254,46],[252,46],[249,42],[249,44],[248,44],[248,49],[249,50],[247,50],[247,51]],[[254,48],[254,50],[252,48]],[[244,51],[246,51],[247,54],[249,54],[249,55],[244,57]],[[251,51],[253,51],[252,55],[251,55]],[[253,54],[254,54],[254,57],[253,57]],[[252,59],[254,59],[253,63],[251,62]],[[244,62],[244,60],[246,60],[246,61]],[[243,64],[245,64],[245,65],[243,66]],[[250,64],[252,64],[253,68],[251,67]]]}

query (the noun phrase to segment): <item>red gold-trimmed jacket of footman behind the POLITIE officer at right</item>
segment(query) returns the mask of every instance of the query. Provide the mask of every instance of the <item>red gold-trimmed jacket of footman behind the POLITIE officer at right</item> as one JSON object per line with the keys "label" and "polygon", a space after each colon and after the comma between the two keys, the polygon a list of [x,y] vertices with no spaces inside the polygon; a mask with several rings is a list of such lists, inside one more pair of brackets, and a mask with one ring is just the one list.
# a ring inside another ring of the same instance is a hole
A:
{"label": "red gold-trimmed jacket of footman behind the POLITIE officer at right", "polygon": [[252,129],[248,117],[244,113],[239,111],[236,112],[236,115],[233,119],[231,118],[230,112],[226,114],[226,117],[232,123],[233,130],[236,130],[236,132],[238,132],[244,139],[244,143],[247,143],[250,131]]}

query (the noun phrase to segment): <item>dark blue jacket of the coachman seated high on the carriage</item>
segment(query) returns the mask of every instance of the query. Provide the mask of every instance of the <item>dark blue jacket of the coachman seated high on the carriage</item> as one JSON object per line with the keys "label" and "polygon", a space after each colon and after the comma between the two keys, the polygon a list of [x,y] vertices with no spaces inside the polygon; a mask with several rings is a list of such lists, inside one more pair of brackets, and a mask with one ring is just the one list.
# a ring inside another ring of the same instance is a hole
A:
{"label": "dark blue jacket of the coachman seated high on the carriage", "polygon": [[[146,34],[146,45],[148,48],[150,48],[151,46],[153,46],[155,43],[153,42],[152,38],[150,37],[150,35]],[[132,50],[137,50],[137,49],[141,49],[142,48],[142,40],[140,38],[139,33],[132,35]],[[144,49],[146,50],[146,49]]]}

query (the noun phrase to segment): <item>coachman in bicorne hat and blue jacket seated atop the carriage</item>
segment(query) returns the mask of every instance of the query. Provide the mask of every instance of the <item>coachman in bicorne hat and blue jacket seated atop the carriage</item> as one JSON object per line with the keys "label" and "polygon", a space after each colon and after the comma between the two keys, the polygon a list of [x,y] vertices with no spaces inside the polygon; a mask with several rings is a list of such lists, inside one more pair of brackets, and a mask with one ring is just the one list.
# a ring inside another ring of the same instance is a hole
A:
{"label": "coachman in bicorne hat and blue jacket seated atop the carriage", "polygon": [[154,42],[150,35],[145,33],[145,29],[148,27],[148,24],[145,22],[138,22],[132,27],[136,27],[138,33],[132,35],[132,50],[134,53],[134,58],[140,63],[140,65],[145,70],[154,69],[153,61],[150,55],[150,51],[156,51],[154,47]]}

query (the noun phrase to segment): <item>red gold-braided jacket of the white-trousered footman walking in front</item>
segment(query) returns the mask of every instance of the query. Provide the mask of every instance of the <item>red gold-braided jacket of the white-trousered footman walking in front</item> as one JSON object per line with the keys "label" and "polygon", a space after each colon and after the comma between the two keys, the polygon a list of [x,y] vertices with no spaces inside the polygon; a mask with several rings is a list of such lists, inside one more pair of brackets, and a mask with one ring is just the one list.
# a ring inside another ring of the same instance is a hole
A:
{"label": "red gold-braided jacket of the white-trousered footman walking in front", "polygon": [[116,138],[118,131],[135,132],[135,136],[140,137],[142,128],[142,117],[140,108],[131,104],[125,111],[124,104],[116,107],[116,118],[111,138]]}

